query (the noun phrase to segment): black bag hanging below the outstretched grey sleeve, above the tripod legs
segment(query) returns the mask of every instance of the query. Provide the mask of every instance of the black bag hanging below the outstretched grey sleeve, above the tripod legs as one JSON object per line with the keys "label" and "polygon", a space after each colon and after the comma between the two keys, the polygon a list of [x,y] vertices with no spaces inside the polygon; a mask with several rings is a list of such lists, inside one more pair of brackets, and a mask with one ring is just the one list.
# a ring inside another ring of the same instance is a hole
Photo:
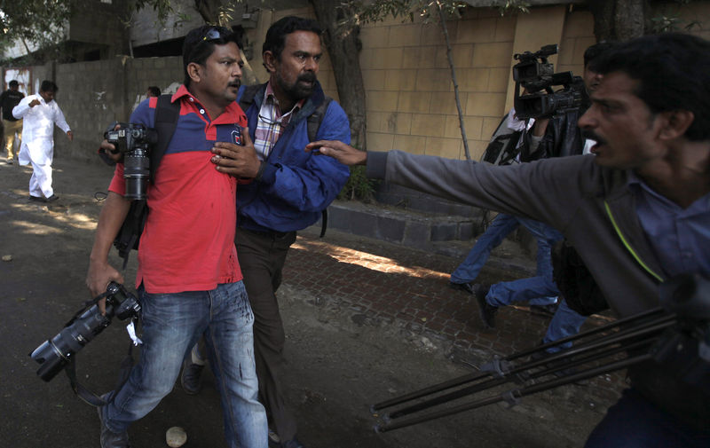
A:
{"label": "black bag hanging below the outstretched grey sleeve, above the tripod legs", "polygon": [[570,309],[582,316],[591,316],[609,308],[587,265],[567,240],[558,242],[553,248],[552,267],[555,283]]}

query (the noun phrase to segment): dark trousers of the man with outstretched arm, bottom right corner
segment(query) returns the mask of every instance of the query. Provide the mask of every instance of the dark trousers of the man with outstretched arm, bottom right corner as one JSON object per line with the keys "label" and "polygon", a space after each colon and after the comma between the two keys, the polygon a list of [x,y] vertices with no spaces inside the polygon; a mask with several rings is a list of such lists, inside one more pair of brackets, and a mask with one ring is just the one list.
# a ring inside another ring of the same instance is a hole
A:
{"label": "dark trousers of the man with outstretched arm, bottom right corner", "polygon": [[594,428],[585,448],[700,448],[710,446],[710,430],[676,420],[635,389],[626,389]]}

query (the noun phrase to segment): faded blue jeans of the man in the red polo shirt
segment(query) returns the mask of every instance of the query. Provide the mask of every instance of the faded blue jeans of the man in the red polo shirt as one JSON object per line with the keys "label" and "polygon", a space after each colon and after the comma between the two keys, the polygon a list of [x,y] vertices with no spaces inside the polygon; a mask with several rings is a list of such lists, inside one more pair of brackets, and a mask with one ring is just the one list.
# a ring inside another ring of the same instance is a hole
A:
{"label": "faded blue jeans of the man in the red polo shirt", "polygon": [[206,335],[209,362],[219,389],[230,448],[264,448],[266,413],[257,400],[254,314],[244,284],[211,291],[148,294],[140,291],[143,346],[129,379],[102,409],[106,427],[125,431],[172,390],[185,353]]}

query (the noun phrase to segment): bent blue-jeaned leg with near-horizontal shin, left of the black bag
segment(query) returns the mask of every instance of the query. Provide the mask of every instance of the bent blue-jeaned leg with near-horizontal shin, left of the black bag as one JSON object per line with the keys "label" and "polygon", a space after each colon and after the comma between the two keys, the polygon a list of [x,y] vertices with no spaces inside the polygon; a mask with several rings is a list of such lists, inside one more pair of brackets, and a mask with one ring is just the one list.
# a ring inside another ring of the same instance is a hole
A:
{"label": "bent blue-jeaned leg with near-horizontal shin, left of the black bag", "polygon": [[525,228],[538,239],[536,275],[528,279],[496,283],[488,290],[485,300],[493,306],[506,306],[520,301],[526,301],[533,305],[555,303],[559,290],[552,278],[550,251],[556,241],[562,240],[562,233],[539,221],[515,216],[514,219],[525,225]]}

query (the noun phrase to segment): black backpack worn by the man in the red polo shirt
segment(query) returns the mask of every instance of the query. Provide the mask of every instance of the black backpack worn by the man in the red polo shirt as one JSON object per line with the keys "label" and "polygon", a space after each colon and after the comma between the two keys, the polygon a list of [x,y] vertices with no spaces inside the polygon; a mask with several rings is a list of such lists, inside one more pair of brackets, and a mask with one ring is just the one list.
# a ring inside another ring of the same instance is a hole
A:
{"label": "black backpack worn by the man in the red polo shirt", "polygon": [[[158,105],[155,107],[155,130],[158,132],[158,143],[150,152],[150,181],[154,182],[155,171],[161,162],[162,156],[168,149],[170,139],[177,127],[177,118],[180,116],[180,102],[170,102],[172,95],[161,95],[158,97]],[[146,200],[133,200],[130,202],[130,209],[126,219],[121,225],[114,240],[114,248],[118,249],[118,255],[123,259],[123,268],[126,269],[131,249],[138,250],[140,234],[146,225],[148,217],[148,207]]]}

